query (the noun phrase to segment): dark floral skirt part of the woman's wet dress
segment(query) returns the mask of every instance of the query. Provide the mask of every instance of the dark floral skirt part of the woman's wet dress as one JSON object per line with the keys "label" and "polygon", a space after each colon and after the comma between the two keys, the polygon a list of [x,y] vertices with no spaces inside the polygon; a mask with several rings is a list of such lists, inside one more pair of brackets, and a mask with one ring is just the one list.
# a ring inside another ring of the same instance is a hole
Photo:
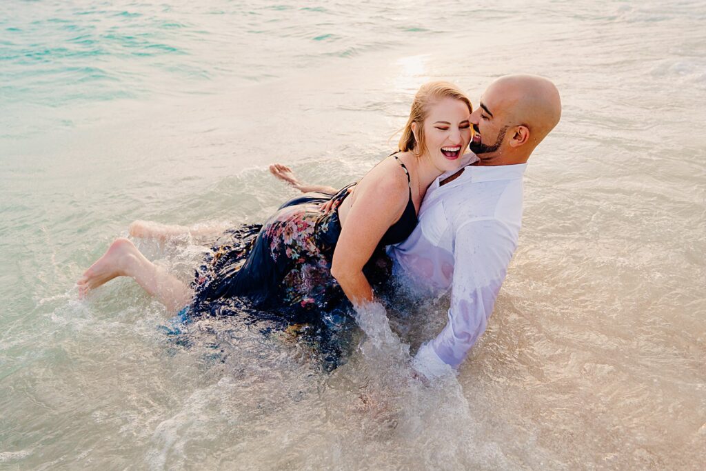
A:
{"label": "dark floral skirt part of the woman's wet dress", "polygon": [[[225,232],[196,270],[196,311],[237,297],[258,310],[275,310],[282,319],[310,322],[345,308],[345,294],[331,276],[340,220],[337,211],[323,213],[319,206],[342,201],[353,185],[335,195],[306,193],[287,201],[263,225]],[[384,260],[381,256],[378,250],[371,260]]]}

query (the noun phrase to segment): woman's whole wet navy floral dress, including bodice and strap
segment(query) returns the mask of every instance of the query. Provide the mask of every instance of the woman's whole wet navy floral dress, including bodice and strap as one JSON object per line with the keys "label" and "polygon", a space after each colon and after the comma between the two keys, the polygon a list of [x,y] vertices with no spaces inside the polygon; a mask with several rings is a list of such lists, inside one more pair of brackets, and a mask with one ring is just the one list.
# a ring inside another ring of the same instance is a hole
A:
{"label": "woman's whole wet navy floral dress, including bodice and strap", "polygon": [[[282,330],[297,326],[298,336],[317,345],[325,365],[335,367],[357,328],[352,306],[331,275],[341,233],[338,213],[319,208],[332,200],[340,205],[354,185],[333,195],[297,196],[263,225],[241,225],[222,234],[196,270],[191,315],[247,313],[248,318],[279,323]],[[384,244],[401,242],[416,223],[410,189],[405,212],[364,267],[373,289],[386,285],[391,270]]]}

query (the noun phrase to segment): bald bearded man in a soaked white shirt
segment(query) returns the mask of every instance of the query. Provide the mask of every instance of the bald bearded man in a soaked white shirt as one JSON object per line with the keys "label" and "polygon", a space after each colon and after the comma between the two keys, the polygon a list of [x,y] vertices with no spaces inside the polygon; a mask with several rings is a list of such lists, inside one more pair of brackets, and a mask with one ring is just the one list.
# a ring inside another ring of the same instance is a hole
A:
{"label": "bald bearded man in a soaked white shirt", "polygon": [[[431,184],[412,235],[388,247],[394,273],[405,282],[437,293],[451,289],[448,323],[414,358],[424,376],[456,368],[484,332],[517,247],[522,174],[560,117],[558,90],[546,78],[491,83],[469,119],[475,131],[469,149],[477,159]],[[301,191],[322,188],[300,184],[282,165],[270,170]]]}

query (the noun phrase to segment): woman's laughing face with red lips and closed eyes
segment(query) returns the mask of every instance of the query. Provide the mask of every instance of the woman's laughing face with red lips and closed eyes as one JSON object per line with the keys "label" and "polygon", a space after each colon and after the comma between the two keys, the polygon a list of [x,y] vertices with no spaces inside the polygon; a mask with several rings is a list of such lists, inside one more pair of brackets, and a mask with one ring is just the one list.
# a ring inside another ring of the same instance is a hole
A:
{"label": "woman's laughing face with red lips and closed eyes", "polygon": [[441,98],[429,105],[423,123],[424,148],[433,166],[441,172],[459,167],[473,134],[469,116],[466,104],[454,98]]}

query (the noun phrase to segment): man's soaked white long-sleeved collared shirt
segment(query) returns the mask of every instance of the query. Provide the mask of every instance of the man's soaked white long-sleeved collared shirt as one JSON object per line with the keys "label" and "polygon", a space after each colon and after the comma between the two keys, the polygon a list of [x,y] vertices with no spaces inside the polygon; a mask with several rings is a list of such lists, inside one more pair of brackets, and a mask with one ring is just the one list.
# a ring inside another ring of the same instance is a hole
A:
{"label": "man's soaked white long-sleeved collared shirt", "polygon": [[426,191],[414,232],[388,247],[395,275],[417,292],[451,289],[448,323],[414,359],[426,376],[458,366],[486,329],[517,247],[526,167],[469,166],[439,186],[442,175]]}

